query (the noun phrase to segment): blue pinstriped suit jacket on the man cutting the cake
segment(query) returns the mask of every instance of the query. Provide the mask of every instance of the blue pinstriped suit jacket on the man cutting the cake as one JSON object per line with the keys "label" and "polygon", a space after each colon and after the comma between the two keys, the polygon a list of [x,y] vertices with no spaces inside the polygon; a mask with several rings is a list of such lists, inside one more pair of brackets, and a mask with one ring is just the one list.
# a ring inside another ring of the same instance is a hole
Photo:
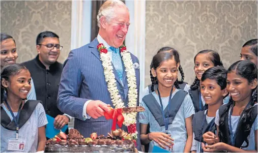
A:
{"label": "blue pinstriped suit jacket on the man cutting the cake", "polygon": [[[98,40],[95,38],[90,44],[74,49],[69,53],[64,63],[64,69],[59,85],[58,108],[75,117],[74,128],[84,137],[90,137],[90,134],[97,132],[98,135],[107,135],[111,131],[112,120],[106,120],[104,116],[98,119],[83,119],[83,105],[88,100],[100,100],[112,106],[107,84],[105,81],[104,70],[97,50]],[[138,58],[131,54],[132,62],[138,63]],[[123,60],[122,60],[123,61]],[[123,65],[124,66],[124,65]],[[121,83],[116,69],[113,69],[116,76],[117,86],[125,105],[128,104],[128,83],[126,73],[123,72],[123,84]],[[135,69],[137,91],[139,93],[139,69]],[[139,95],[138,95],[139,96]],[[139,100],[137,101],[139,105]],[[113,107],[113,106],[112,106]],[[117,127],[119,128],[119,127]],[[137,131],[140,133],[138,115]],[[127,131],[125,126],[123,130]],[[140,140],[138,134],[137,149],[140,149]]]}

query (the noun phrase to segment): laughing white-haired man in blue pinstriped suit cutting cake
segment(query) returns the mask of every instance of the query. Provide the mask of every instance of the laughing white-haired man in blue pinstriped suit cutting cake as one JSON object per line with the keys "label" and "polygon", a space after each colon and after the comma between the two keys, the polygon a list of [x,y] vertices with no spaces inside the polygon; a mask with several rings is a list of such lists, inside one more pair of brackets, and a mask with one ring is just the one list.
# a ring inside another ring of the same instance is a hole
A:
{"label": "laughing white-haired man in blue pinstriped suit cutting cake", "polygon": [[[119,47],[123,45],[129,25],[129,11],[126,5],[121,1],[106,1],[100,8],[98,16],[99,34],[91,43],[74,49],[69,53],[64,63],[64,69],[61,76],[58,107],[59,109],[75,117],[74,128],[84,137],[90,137],[90,134],[97,132],[98,135],[107,135],[111,131],[112,120],[106,120],[105,111],[112,104],[110,91],[104,75],[102,60],[97,46],[102,43],[107,49],[107,55],[111,60],[116,84],[124,106],[130,105],[131,99],[128,95],[130,91],[130,80],[127,76],[125,63],[119,52]],[[135,70],[135,86],[137,89],[137,104],[139,105],[139,61],[133,54],[131,56],[133,69]],[[131,83],[130,83],[131,84]],[[128,98],[129,97],[129,98]],[[136,140],[137,149],[141,150],[140,129],[138,115],[136,117],[136,129],[138,139]],[[118,127],[117,127],[118,128]],[[128,131],[123,125],[123,130]]]}

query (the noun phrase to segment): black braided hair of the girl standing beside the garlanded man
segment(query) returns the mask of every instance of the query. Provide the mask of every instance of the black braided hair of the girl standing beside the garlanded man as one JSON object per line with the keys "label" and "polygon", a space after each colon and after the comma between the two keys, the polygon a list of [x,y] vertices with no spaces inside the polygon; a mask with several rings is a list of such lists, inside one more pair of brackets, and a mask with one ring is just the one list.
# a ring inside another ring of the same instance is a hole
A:
{"label": "black braided hair of the girl standing beside the garlanded man", "polygon": [[[158,50],[157,54],[160,52],[170,52],[173,54],[174,59],[176,60],[176,64],[180,63],[180,58],[179,58],[179,53],[176,49],[172,48],[172,47],[162,47]],[[151,69],[152,69],[152,64],[151,64]],[[179,81],[178,79],[176,80],[176,82],[174,83],[176,88],[180,88],[179,84],[182,84],[184,82],[184,78],[185,78],[185,74],[183,71],[183,68],[181,67],[181,65],[179,65],[179,72],[181,74],[181,81]],[[151,70],[150,70],[150,74],[151,74]]]}

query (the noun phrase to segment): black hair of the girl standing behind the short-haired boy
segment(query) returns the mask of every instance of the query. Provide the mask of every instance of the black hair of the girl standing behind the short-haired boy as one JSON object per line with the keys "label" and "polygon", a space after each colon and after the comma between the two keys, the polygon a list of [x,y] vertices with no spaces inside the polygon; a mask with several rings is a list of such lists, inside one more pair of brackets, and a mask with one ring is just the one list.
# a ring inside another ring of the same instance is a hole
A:
{"label": "black hair of the girl standing behind the short-haired boy", "polygon": [[[214,65],[214,67],[216,67],[216,66],[222,66],[223,67],[223,64],[222,64],[222,62],[221,62],[221,60],[220,60],[220,56],[219,56],[219,54],[216,52],[216,51],[214,51],[214,50],[202,50],[202,51],[199,51],[195,56],[194,56],[194,63],[195,63],[195,58],[197,57],[197,55],[198,54],[204,54],[204,53],[209,53],[209,57],[210,57],[210,60],[211,60],[211,62],[213,63],[213,65]],[[195,77],[195,79],[194,79],[194,81],[193,81],[193,83],[192,83],[192,85],[190,86],[190,88],[192,89],[192,90],[195,90],[195,89],[197,89],[198,87],[199,87],[199,85],[200,85],[200,81],[198,80],[198,78],[197,77]]]}

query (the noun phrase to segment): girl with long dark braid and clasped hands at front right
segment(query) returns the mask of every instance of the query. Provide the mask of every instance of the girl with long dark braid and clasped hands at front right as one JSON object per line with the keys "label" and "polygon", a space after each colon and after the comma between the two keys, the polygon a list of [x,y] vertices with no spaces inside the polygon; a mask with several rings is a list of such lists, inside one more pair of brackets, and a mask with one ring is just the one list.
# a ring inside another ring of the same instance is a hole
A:
{"label": "girl with long dark braid and clasped hands at front right", "polygon": [[[257,152],[257,68],[249,61],[234,63],[227,72],[228,104],[216,112],[218,135],[203,135],[204,151]],[[252,94],[253,93],[253,94]]]}

